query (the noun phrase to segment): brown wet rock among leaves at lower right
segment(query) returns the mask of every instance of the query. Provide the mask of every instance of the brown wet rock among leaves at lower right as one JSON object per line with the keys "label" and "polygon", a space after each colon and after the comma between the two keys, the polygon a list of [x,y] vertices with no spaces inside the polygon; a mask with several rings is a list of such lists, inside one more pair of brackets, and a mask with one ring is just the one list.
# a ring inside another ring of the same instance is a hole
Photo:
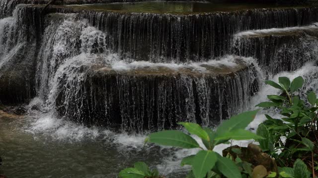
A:
{"label": "brown wet rock among leaves at lower right", "polygon": [[[233,149],[239,149],[240,154],[233,151]],[[251,163],[254,167],[262,165],[267,170],[267,172],[278,171],[275,159],[271,158],[268,154],[263,153],[260,147],[253,143],[249,143],[247,147],[240,147],[238,145],[231,146],[223,150],[222,153],[223,156],[230,154],[234,158],[239,157],[242,161]],[[259,169],[259,172],[257,171],[257,173],[261,173],[262,175],[264,169],[262,167],[258,167],[257,169]]]}

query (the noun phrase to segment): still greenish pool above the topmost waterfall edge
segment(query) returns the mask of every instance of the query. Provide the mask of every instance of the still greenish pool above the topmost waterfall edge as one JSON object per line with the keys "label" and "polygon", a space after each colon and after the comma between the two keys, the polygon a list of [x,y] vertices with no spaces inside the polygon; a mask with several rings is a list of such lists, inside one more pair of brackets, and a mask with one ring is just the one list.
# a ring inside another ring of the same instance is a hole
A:
{"label": "still greenish pool above the topmost waterfall edge", "polygon": [[[292,5],[276,5],[261,3],[220,3],[220,2],[178,2],[178,1],[143,1],[107,4],[68,5],[73,8],[93,9],[96,11],[150,12],[190,14],[215,11],[236,11],[253,8],[283,8]],[[297,6],[294,6],[297,7]]]}

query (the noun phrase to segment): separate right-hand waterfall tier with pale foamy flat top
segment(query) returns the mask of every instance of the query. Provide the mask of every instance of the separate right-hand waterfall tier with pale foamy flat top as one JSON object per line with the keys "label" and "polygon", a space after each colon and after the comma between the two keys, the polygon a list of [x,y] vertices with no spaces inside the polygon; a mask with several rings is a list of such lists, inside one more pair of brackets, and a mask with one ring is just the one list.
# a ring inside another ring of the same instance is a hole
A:
{"label": "separate right-hand waterfall tier with pale foamy flat top", "polygon": [[318,58],[318,26],[240,32],[234,38],[234,53],[252,56],[267,75],[294,71]]}

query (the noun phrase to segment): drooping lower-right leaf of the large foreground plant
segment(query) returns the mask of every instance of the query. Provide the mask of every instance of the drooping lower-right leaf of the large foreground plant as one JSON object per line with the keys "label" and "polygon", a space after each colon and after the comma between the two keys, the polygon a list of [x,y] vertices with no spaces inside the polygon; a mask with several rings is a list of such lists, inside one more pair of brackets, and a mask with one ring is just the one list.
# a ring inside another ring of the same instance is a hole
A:
{"label": "drooping lower-right leaf of the large foreground plant", "polygon": [[227,178],[242,178],[238,166],[229,158],[218,156],[216,168]]}

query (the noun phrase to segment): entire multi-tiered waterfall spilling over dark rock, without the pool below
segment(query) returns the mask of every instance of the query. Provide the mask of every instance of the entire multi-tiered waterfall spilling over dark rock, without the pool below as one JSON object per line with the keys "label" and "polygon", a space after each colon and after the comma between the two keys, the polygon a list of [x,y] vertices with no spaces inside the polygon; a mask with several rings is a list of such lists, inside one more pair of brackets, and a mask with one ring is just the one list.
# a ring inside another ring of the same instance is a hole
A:
{"label": "entire multi-tiered waterfall spilling over dark rock, without the pool below", "polygon": [[0,99],[36,96],[58,117],[122,131],[213,127],[248,109],[264,78],[316,60],[318,29],[305,25],[317,18],[315,7],[176,15],[17,5],[0,20]]}

